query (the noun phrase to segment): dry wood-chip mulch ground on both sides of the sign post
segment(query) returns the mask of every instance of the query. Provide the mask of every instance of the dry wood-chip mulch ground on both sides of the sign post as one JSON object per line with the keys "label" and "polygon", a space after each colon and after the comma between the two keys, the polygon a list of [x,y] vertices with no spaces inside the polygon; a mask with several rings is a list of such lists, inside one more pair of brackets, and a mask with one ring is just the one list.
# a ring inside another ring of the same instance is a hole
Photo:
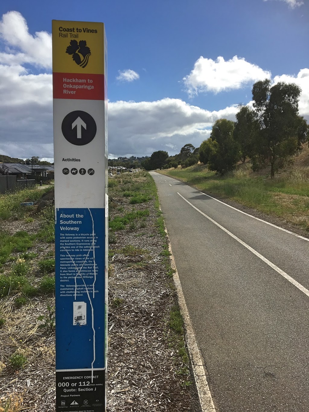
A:
{"label": "dry wood-chip mulch ground on both sides of the sign post", "polygon": [[[160,255],[164,239],[155,202],[133,206],[128,198],[111,192],[110,197],[111,219],[119,215],[118,206],[121,214],[132,208],[150,213],[143,225],[116,232],[110,244],[107,409],[198,412],[194,379],[178,354],[179,337],[169,328],[177,298]],[[9,231],[35,230],[37,222],[32,225],[12,222]],[[55,336],[39,329],[37,320],[47,314],[47,304],[54,305],[54,297],[29,299],[21,308],[14,307],[14,297],[0,301],[6,319],[0,333],[0,400],[14,394],[19,409],[13,411],[55,411]],[[16,370],[9,364],[15,352],[28,359]]]}

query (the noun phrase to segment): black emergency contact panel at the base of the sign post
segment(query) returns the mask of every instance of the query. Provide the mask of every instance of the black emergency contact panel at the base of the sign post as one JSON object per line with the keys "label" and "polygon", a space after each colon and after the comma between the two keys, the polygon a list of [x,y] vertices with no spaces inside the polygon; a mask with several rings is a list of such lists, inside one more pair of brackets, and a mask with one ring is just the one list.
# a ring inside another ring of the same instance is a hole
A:
{"label": "black emergency contact panel at the base of the sign post", "polygon": [[105,411],[105,370],[56,372],[56,412]]}

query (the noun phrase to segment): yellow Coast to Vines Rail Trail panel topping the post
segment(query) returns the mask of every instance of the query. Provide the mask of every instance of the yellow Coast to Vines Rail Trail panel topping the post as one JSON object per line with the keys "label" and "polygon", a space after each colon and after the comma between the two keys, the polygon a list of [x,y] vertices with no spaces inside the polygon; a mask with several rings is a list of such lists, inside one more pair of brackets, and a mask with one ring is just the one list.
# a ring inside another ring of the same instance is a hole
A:
{"label": "yellow Coast to Vines Rail Trail panel topping the post", "polygon": [[54,73],[105,74],[104,23],[53,20],[52,39]]}

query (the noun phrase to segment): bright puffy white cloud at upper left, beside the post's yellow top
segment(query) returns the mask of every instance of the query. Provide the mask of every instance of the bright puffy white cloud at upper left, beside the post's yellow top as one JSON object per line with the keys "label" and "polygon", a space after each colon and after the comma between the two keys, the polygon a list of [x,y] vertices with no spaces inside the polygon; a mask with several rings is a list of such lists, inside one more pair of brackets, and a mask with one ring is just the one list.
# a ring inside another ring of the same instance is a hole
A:
{"label": "bright puffy white cloud at upper left, beside the post's yellow top", "polygon": [[46,31],[31,35],[27,22],[19,12],[7,12],[0,21],[0,37],[9,45],[1,54],[2,64],[31,63],[37,67],[52,67],[52,35]]}

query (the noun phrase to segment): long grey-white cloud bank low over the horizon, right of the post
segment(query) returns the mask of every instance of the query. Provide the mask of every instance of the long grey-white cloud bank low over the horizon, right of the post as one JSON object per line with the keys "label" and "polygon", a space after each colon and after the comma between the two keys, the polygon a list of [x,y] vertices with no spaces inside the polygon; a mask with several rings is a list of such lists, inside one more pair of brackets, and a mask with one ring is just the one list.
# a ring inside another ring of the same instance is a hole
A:
{"label": "long grey-white cloud bank low over the horizon, right of the post", "polygon": [[237,111],[235,105],[211,112],[172,98],[109,102],[109,152],[118,156],[124,153],[149,156],[155,150],[168,148],[170,155],[176,154],[186,143],[199,146],[209,137],[215,120],[221,117],[234,120]]}

